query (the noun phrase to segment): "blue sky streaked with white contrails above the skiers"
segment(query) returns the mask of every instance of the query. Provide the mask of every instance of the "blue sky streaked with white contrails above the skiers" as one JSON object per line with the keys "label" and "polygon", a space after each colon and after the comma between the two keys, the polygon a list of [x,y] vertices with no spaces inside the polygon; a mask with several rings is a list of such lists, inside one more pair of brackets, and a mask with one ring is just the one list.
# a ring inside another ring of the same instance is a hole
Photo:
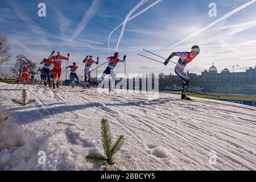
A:
{"label": "blue sky streaked with white contrails above the skiers", "polygon": [[[46,4],[46,17],[38,16],[40,2]],[[133,17],[154,2],[150,9]],[[216,17],[208,15],[212,2],[217,5]],[[251,0],[1,0],[0,12],[0,33],[10,40],[13,55],[8,64],[0,66],[0,72],[9,72],[19,54],[35,61],[39,68],[40,61],[55,50],[63,55],[70,52],[69,63],[75,61],[82,75],[84,57],[99,56],[100,63],[104,63],[115,52],[121,32],[117,50],[121,57],[127,55],[127,73],[174,74],[175,65],[164,67],[138,53],[151,56],[142,51],[147,48],[167,57],[171,52],[190,51],[194,44],[201,47],[201,53],[188,65],[189,72],[199,74],[213,62],[219,72],[225,67],[232,70],[230,66],[235,64],[240,65],[236,71],[256,65],[256,2]],[[110,32],[131,17],[123,31],[121,26],[110,36],[108,51]],[[116,72],[124,72],[122,63]]]}

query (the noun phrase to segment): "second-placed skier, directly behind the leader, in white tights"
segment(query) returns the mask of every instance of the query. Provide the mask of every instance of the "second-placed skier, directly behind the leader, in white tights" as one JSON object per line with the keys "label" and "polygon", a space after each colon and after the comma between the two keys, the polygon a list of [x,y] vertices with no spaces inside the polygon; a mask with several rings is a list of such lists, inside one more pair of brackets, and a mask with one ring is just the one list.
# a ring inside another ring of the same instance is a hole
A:
{"label": "second-placed skier, directly behind the leader, in white tights", "polygon": [[114,56],[108,57],[107,60],[109,60],[109,65],[106,68],[106,70],[103,72],[102,76],[98,78],[97,84],[100,84],[100,82],[104,81],[104,78],[106,75],[110,75],[112,77],[112,81],[110,82],[110,90],[113,90],[115,88],[115,67],[117,63],[125,63],[126,55],[123,56],[123,60],[119,59],[118,52],[114,53]]}

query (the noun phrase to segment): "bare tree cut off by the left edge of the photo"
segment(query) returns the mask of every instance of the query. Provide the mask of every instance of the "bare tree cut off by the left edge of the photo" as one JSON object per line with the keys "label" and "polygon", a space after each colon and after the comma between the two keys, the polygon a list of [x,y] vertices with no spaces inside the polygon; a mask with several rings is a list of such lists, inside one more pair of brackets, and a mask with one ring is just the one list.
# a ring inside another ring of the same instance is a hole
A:
{"label": "bare tree cut off by the left edge of the photo", "polygon": [[8,54],[10,46],[6,36],[0,34],[0,64],[10,60],[11,55]]}

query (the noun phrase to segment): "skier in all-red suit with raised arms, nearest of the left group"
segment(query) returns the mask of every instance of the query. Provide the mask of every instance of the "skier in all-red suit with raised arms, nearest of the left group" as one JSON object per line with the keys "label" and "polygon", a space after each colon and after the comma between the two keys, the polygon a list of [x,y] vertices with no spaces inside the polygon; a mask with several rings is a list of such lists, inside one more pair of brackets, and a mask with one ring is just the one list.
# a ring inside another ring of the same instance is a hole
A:
{"label": "skier in all-red suit with raised arms, nearest of the left group", "polygon": [[49,58],[53,61],[53,71],[54,71],[54,80],[53,80],[53,89],[55,89],[55,81],[57,79],[56,86],[59,88],[59,82],[60,82],[60,77],[61,77],[61,63],[63,60],[69,60],[69,53],[68,57],[61,56],[60,52],[57,52],[57,56],[52,56]]}

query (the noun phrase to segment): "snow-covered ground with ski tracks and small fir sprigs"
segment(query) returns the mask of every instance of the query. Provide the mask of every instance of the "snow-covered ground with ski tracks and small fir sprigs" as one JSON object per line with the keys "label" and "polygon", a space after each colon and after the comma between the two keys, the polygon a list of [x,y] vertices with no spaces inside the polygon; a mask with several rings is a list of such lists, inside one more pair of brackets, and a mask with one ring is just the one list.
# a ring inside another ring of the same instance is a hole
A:
{"label": "snow-covered ground with ski tracks and small fir sprigs", "polygon": [[[89,152],[104,154],[102,118],[109,119],[114,139],[125,135],[110,169],[256,169],[255,107],[41,86],[28,86],[28,100],[36,103],[22,107],[11,102],[20,99],[20,88],[0,85],[1,170],[104,169],[84,160]],[[38,163],[39,151],[46,152],[46,165]]]}

